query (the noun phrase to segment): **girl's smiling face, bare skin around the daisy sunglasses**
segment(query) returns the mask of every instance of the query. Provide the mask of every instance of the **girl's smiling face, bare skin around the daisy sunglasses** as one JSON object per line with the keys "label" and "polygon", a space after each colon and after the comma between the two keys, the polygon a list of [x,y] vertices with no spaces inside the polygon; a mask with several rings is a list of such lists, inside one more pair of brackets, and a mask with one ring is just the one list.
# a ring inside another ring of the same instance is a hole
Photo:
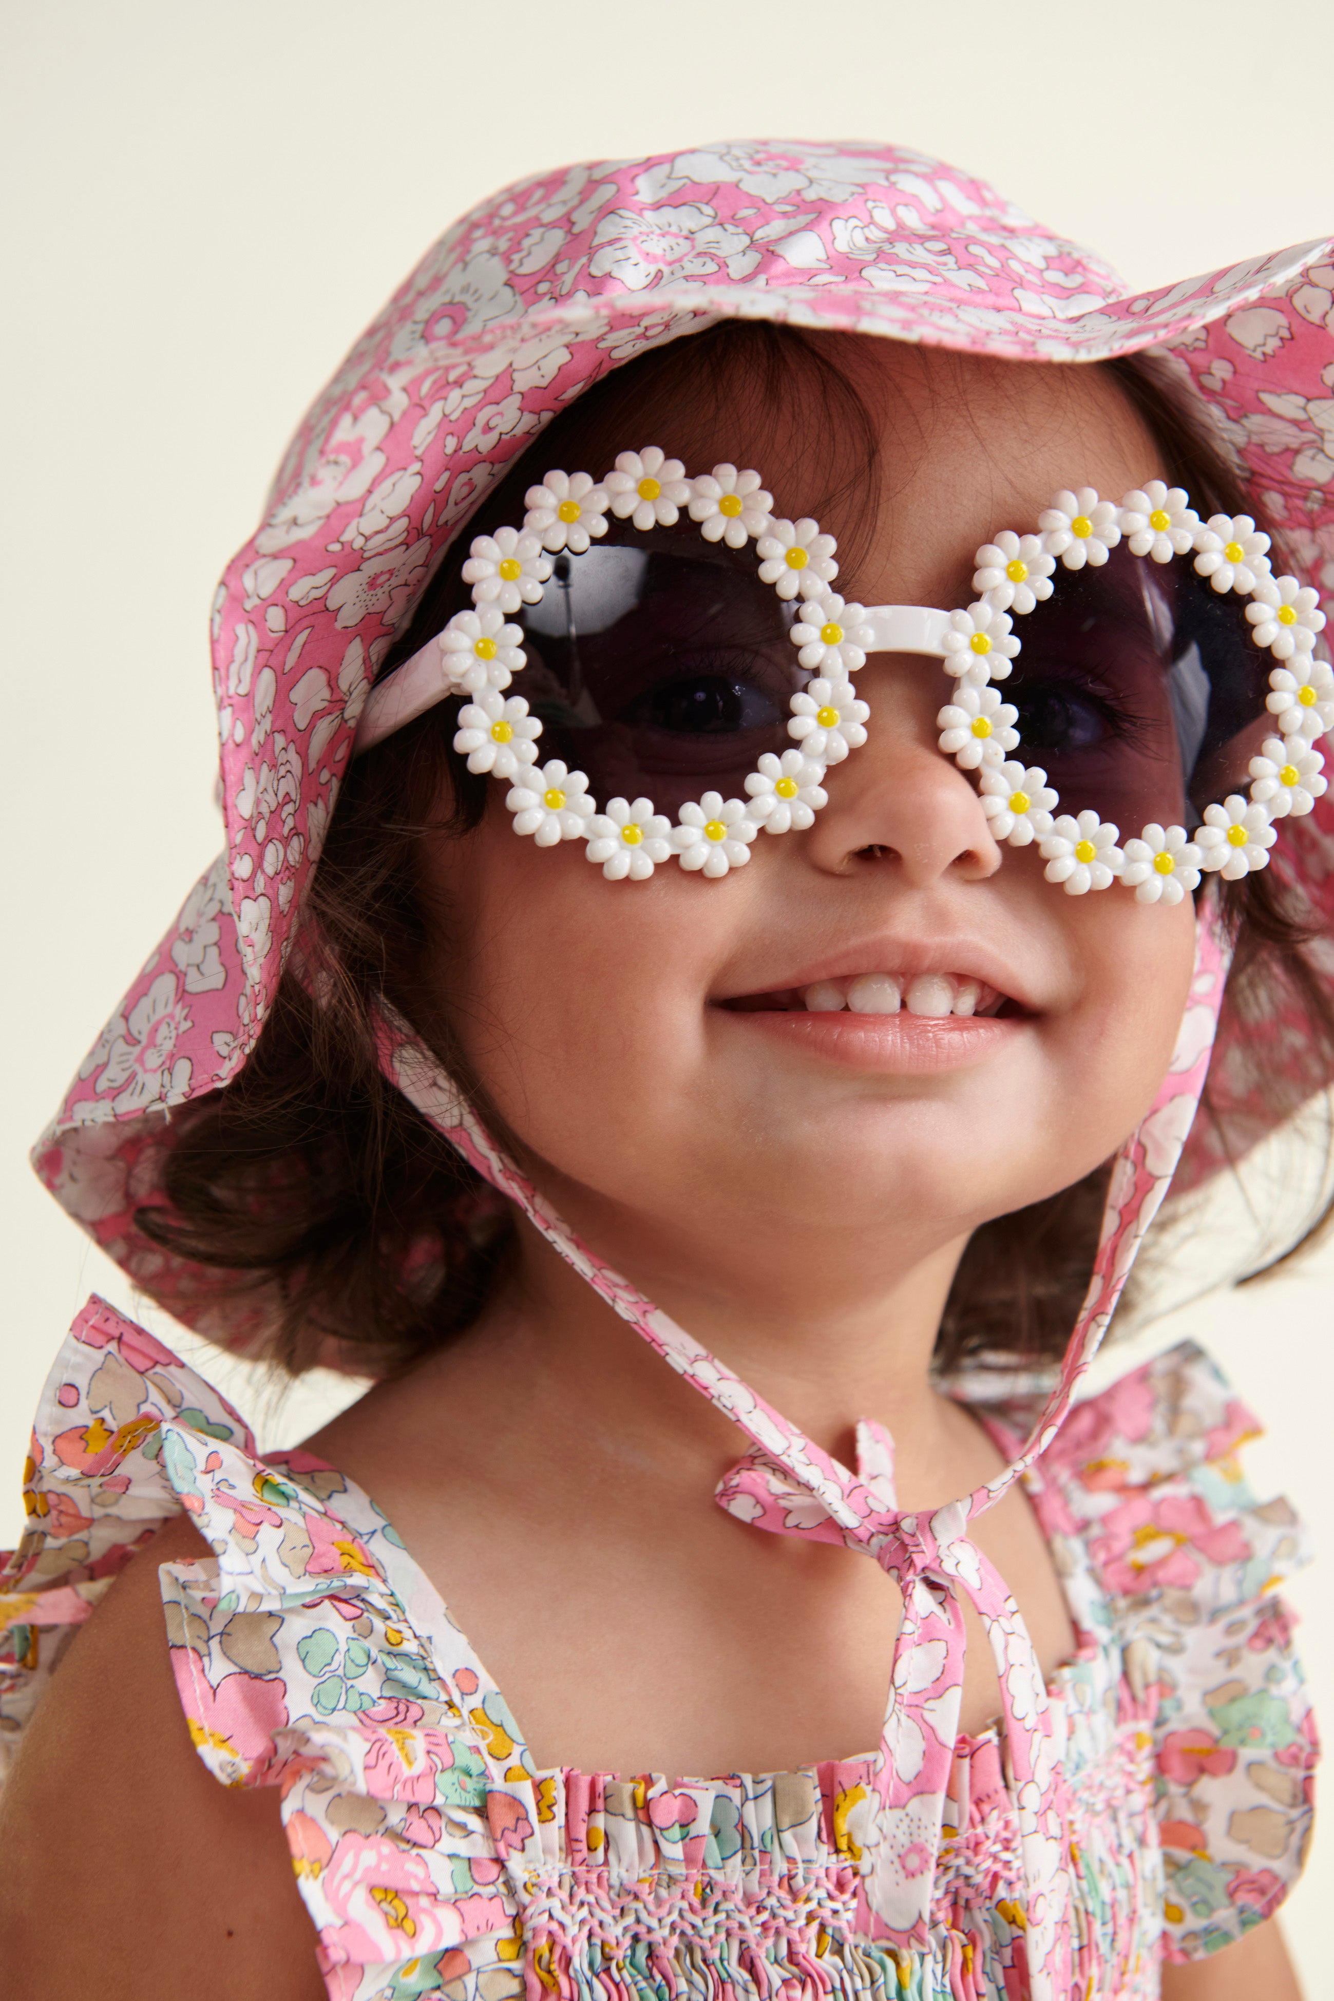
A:
{"label": "girl's smiling face, bare skin around the daisy sunglasses", "polygon": [[[1096,368],[888,340],[850,356],[884,502],[848,598],[964,604],[978,544],[1062,486],[1170,476]],[[794,436],[820,422],[798,396]],[[746,452],[742,418],[724,432],[698,464],[756,464],[780,512],[814,510]],[[1190,898],[1066,896],[1036,848],[996,844],[936,748],[934,660],[878,654],[856,680],[870,738],[830,768],[828,806],[722,880],[606,882],[578,842],[516,838],[500,784],[474,834],[426,854],[448,912],[432,986],[536,1183],[604,1255],[718,1297],[742,1277],[756,1307],[904,1267],[1104,1161],[1154,1099],[1192,970]],[[874,974],[908,992],[898,1015],[804,1007]],[[948,1005],[942,976],[1002,1011],[912,1013]]]}

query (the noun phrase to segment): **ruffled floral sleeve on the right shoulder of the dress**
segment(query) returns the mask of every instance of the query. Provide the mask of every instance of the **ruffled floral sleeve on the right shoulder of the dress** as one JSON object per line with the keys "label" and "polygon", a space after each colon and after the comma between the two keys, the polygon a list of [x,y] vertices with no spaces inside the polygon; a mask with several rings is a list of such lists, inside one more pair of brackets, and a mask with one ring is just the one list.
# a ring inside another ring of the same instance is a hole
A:
{"label": "ruffled floral sleeve on the right shoulder of the dress", "polygon": [[1182,1343],[1078,1405],[1034,1485],[1048,1535],[1082,1545],[1106,1595],[1122,1701],[1152,1731],[1166,1959],[1204,1957],[1270,1917],[1310,1839],[1320,1745],[1274,1595],[1308,1545],[1292,1507],[1256,1501],[1242,1477],[1238,1451],[1256,1437],[1220,1371]]}

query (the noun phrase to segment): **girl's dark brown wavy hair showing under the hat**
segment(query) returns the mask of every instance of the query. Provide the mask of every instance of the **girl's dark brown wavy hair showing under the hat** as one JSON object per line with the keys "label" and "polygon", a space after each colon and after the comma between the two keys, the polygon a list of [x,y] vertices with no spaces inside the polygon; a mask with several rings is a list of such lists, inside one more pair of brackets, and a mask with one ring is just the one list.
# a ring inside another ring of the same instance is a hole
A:
{"label": "girl's dark brown wavy hair showing under the hat", "polygon": [[[1158,364],[1102,366],[1202,514],[1254,512]],[[784,414],[794,390],[806,410],[800,434]],[[812,398],[826,418],[820,424],[810,424]],[[856,566],[858,538],[876,514],[878,426],[838,346],[736,322],[676,340],[562,412],[544,434],[544,460],[606,464],[630,432],[656,428],[676,442],[682,410],[704,438],[722,436],[722,420],[740,410],[756,460],[786,466],[784,482],[802,496],[802,510],[836,518],[848,504],[840,556]],[[844,440],[838,458],[822,442],[830,438]],[[532,476],[520,462],[472,530],[516,518]],[[454,552],[394,642],[386,672],[440,630],[462,602],[458,588]],[[272,1329],[268,1353],[292,1373],[330,1341],[372,1375],[410,1367],[478,1317],[514,1241],[508,1205],[386,1083],[374,1055],[376,1007],[386,996],[496,1131],[422,976],[440,912],[426,912],[416,888],[420,842],[442,828],[476,828],[488,796],[488,780],[470,774],[452,748],[458,706],[438,704],[352,766],[300,922],[300,952],[314,976],[302,982],[286,972],[246,1069],[176,1115],[166,1203],[136,1215],[144,1237],[256,1295]],[[452,780],[444,820],[442,772]],[[1202,1113],[1228,1157],[1242,1151],[1234,1103],[1260,1095],[1266,1117],[1278,1121],[1334,1075],[1334,1005],[1310,950],[1320,926],[1292,882],[1268,868],[1222,890],[1236,938],[1226,1017],[1246,1025],[1296,1009],[1306,1051],[1306,1075],[1280,1081],[1256,1061],[1254,1077],[1230,1079],[1228,1105],[1206,1099]],[[506,1139],[504,1131],[496,1137]],[[1106,1177],[1098,1169],[974,1233],[940,1325],[942,1369],[984,1355],[1060,1357],[1088,1283]]]}

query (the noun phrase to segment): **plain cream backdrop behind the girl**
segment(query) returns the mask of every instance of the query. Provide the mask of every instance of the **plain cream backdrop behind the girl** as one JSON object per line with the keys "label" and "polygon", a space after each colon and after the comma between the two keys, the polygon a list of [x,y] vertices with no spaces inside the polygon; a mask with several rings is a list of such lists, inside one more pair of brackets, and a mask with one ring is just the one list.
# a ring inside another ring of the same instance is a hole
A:
{"label": "plain cream backdrop behind the girl", "polygon": [[[502,182],[570,158],[874,136],[984,174],[1134,286],[1170,282],[1334,232],[1334,8],[10,0],[6,12],[8,1541],[28,1417],[66,1323],[94,1287],[134,1307],[38,1189],[26,1149],[220,844],[216,576],[306,400],[426,244]],[[1220,1197],[1192,1269],[1216,1273],[1254,1213],[1282,1235],[1300,1209],[1264,1175],[1248,1203]],[[1294,1591],[1326,1719],[1332,1307],[1324,1253],[1138,1337],[1198,1335],[1268,1419],[1258,1477],[1288,1491],[1326,1553]],[[144,1317],[176,1339],[162,1315]],[[244,1369],[222,1377],[248,1409],[264,1403],[266,1443],[300,1437],[346,1395],[316,1381],[282,1405]],[[1332,1889],[1334,1833],[1322,1833],[1288,1921],[1312,1997],[1328,1991],[1316,1949]]]}

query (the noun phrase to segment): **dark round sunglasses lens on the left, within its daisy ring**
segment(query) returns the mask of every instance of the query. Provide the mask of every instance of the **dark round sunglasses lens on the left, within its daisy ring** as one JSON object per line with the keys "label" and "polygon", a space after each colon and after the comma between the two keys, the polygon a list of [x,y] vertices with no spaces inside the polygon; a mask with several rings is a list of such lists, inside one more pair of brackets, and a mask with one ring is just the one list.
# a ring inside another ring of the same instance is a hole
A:
{"label": "dark round sunglasses lens on the left, within its daisy ring", "polygon": [[520,616],[528,664],[514,692],[542,718],[542,756],[588,772],[608,798],[658,812],[700,792],[744,798],[764,750],[782,752],[806,674],[796,616],[756,576],[754,552],[710,548],[692,526],[560,554]]}

